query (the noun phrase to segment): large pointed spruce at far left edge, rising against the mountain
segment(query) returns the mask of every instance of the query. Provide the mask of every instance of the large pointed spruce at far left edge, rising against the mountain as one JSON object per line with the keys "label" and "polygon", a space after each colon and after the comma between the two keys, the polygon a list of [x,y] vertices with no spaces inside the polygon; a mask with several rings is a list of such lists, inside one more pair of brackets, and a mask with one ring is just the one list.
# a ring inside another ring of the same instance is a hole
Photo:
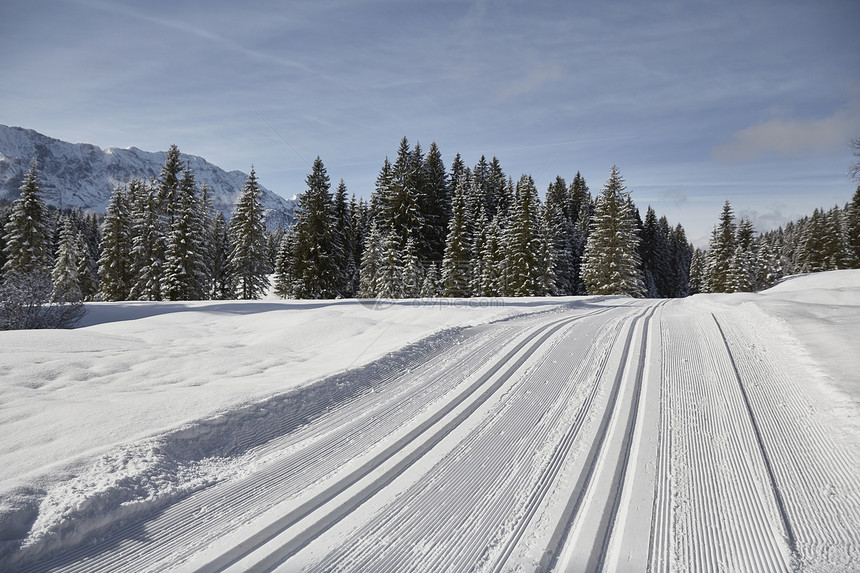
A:
{"label": "large pointed spruce at far left edge, rising against the mountain", "polygon": [[50,273],[53,232],[49,220],[34,159],[30,170],[24,176],[21,196],[12,203],[12,212],[4,227],[4,275]]}

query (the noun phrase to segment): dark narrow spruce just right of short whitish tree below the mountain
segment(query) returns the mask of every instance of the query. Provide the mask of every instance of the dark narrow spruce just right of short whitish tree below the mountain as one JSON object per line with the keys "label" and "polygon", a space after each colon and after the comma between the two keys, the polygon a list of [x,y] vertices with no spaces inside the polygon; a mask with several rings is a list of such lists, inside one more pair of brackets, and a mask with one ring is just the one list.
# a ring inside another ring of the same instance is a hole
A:
{"label": "dark narrow spruce just right of short whitish tree below the mountain", "polygon": [[127,300],[133,280],[131,200],[117,185],[108,203],[100,244],[99,292],[106,301]]}

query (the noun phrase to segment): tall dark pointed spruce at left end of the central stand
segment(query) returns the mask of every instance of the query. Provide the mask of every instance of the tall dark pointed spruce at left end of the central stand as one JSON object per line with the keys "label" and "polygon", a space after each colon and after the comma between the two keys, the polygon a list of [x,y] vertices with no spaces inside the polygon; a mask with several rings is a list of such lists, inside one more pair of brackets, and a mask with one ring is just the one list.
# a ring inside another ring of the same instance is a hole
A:
{"label": "tall dark pointed spruce at left end of the central stand", "polygon": [[307,190],[296,204],[293,295],[296,298],[336,298],[343,283],[342,245],[336,234],[334,203],[322,160],[314,160]]}

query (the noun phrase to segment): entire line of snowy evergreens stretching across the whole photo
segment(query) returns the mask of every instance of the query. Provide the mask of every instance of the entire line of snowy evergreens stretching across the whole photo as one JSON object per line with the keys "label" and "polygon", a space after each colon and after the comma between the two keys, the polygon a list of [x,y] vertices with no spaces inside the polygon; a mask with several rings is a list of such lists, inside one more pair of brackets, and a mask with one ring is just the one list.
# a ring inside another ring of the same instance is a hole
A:
{"label": "entire line of snowy evergreens stretching across the whole photo", "polygon": [[0,209],[4,324],[29,324],[9,318],[27,297],[56,316],[84,300],[255,299],[272,275],[292,298],[683,297],[860,266],[860,188],[844,209],[760,235],[727,201],[702,251],[650,206],[643,219],[616,166],[594,196],[576,173],[542,200],[495,157],[469,167],[458,154],[446,168],[435,143],[425,153],[403,138],[368,201],[343,180],[332,191],[320,158],[305,183],[295,224],[269,230],[253,167],[227,219],[174,145],[159,177],[118,186],[102,217],[48,209],[34,162]]}

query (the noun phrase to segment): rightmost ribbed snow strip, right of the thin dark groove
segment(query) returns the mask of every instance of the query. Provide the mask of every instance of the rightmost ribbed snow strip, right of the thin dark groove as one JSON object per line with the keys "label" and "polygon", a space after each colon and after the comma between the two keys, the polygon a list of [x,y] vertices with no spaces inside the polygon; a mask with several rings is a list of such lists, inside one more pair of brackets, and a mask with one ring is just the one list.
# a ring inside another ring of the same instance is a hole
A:
{"label": "rightmost ribbed snow strip, right of the thin dark groove", "polygon": [[[760,312],[760,311],[759,311]],[[721,315],[722,328],[773,465],[802,570],[860,569],[860,448],[827,415],[822,393],[763,313]],[[774,344],[777,341],[777,344]],[[820,382],[819,382],[820,383]]]}

